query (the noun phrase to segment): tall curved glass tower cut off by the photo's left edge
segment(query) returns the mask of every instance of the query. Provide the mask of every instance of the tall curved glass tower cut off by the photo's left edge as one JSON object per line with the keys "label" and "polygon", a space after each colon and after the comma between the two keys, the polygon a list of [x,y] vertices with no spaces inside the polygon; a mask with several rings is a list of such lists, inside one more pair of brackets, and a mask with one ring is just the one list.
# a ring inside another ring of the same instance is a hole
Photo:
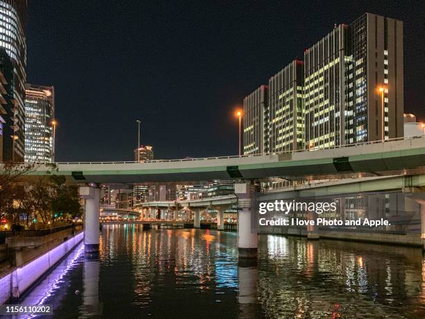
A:
{"label": "tall curved glass tower cut off by the photo's left edge", "polygon": [[26,0],[0,0],[0,48],[6,49],[14,74],[11,136],[13,151],[8,150],[8,153],[14,153],[11,156],[13,161],[24,161],[25,154],[26,6]]}

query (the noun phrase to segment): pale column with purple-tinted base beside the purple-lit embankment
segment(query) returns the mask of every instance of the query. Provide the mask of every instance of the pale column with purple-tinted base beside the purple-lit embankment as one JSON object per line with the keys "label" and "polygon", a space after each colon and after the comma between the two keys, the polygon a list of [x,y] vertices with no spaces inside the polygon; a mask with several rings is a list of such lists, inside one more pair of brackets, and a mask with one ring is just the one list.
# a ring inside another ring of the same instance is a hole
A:
{"label": "pale column with purple-tinted base beside the purple-lit embankment", "polygon": [[99,252],[100,188],[81,187],[80,195],[85,199],[84,210],[84,251]]}

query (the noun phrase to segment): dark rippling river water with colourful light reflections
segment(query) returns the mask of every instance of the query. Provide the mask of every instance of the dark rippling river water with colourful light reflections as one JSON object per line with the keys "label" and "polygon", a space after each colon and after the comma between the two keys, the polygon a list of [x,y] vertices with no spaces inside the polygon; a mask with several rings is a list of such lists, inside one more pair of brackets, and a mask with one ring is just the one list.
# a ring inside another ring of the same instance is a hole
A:
{"label": "dark rippling river water with colourful light reflections", "polygon": [[425,317],[416,248],[260,235],[257,265],[238,265],[236,233],[109,224],[100,250],[79,245],[19,304],[53,304],[53,318]]}

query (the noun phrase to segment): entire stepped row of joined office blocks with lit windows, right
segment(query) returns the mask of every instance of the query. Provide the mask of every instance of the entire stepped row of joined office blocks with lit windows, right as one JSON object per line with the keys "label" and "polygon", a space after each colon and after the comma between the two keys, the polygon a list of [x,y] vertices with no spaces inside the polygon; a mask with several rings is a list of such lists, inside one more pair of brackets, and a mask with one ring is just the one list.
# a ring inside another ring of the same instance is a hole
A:
{"label": "entire stepped row of joined office blocks with lit windows, right", "polygon": [[263,87],[244,99],[244,154],[402,137],[403,22],[335,25]]}

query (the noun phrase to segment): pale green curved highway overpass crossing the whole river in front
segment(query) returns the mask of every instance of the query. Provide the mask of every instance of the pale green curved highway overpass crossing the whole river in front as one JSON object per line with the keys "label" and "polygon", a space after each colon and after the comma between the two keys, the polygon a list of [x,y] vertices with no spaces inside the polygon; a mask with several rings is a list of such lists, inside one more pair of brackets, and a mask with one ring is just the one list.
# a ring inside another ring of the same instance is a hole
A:
{"label": "pale green curved highway overpass crossing the whole river in front", "polygon": [[25,179],[57,174],[68,183],[144,183],[213,179],[312,179],[335,174],[409,174],[425,166],[425,136],[282,154],[135,162],[36,165]]}

